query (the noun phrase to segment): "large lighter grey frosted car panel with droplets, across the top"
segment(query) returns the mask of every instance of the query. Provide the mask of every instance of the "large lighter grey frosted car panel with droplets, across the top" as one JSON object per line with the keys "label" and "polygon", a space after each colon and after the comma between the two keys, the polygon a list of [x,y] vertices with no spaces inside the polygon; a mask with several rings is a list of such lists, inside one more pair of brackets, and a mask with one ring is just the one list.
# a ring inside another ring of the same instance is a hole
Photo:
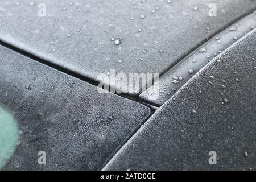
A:
{"label": "large lighter grey frosted car panel with droplets, across the top", "polygon": [[[0,40],[94,81],[110,69],[162,75],[256,8],[252,0],[46,0],[46,17],[39,17],[40,2],[2,2]],[[217,3],[216,17],[209,3]]]}

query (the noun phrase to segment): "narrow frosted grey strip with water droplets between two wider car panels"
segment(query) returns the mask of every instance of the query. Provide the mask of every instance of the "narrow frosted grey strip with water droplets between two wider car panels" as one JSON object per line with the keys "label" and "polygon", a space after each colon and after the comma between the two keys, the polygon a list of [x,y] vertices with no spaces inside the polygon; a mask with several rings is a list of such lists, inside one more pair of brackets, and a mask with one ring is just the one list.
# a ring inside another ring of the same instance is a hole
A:
{"label": "narrow frosted grey strip with water droplets between two wider car panels", "polygon": [[[200,71],[210,60],[253,30],[254,27],[256,27],[256,12],[248,15],[234,26],[227,28],[225,31],[221,32],[220,35],[209,40],[209,42],[180,61],[180,64],[175,65],[175,67],[160,78],[158,85],[153,85],[151,88],[141,93],[140,97],[156,106],[162,106],[164,102],[171,98],[177,90]],[[176,81],[174,79],[179,77],[182,77],[182,80],[178,79]]]}

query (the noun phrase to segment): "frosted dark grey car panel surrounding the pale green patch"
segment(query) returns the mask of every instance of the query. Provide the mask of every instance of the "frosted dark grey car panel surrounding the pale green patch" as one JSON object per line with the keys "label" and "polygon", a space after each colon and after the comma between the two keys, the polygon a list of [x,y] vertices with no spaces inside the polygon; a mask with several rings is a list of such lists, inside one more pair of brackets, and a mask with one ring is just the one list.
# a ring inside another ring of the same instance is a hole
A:
{"label": "frosted dark grey car panel surrounding the pale green patch", "polygon": [[[146,106],[100,94],[2,46],[0,62],[0,105],[19,127],[18,146],[3,169],[100,169],[150,115]],[[39,151],[47,165],[38,164]]]}

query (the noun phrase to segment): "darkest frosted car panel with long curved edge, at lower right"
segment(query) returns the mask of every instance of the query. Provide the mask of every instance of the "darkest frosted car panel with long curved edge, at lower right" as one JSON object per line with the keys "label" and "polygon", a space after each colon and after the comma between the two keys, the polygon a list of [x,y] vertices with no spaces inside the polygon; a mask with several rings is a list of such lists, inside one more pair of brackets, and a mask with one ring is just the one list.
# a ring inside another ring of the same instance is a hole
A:
{"label": "darkest frosted car panel with long curved edge, at lower right", "polygon": [[255,169],[255,47],[254,29],[160,107],[104,169]]}

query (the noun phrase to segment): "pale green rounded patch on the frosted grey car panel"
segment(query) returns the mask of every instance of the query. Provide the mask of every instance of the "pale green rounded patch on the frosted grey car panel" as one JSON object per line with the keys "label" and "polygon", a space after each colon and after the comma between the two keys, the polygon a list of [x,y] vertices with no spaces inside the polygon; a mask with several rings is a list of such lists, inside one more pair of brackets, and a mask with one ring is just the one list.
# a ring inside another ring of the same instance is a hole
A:
{"label": "pale green rounded patch on the frosted grey car panel", "polygon": [[13,114],[0,106],[0,169],[13,156],[18,138],[18,126]]}

